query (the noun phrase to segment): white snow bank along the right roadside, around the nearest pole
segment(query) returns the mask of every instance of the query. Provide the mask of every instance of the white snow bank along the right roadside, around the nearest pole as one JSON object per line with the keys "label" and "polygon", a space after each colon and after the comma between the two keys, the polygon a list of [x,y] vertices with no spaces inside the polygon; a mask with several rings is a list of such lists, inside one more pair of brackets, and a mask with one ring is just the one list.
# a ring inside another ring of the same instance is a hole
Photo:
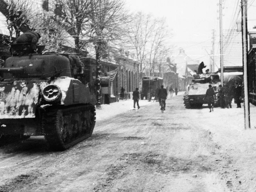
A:
{"label": "white snow bank along the right roadside, around the nearest pole", "polygon": [[[242,104],[242,103],[241,103]],[[224,156],[232,161],[232,171],[240,183],[236,191],[256,191],[256,107],[250,105],[251,129],[245,130],[244,109],[215,108],[209,112],[208,108],[202,109],[198,115],[201,127],[213,134],[213,141],[220,146]]]}

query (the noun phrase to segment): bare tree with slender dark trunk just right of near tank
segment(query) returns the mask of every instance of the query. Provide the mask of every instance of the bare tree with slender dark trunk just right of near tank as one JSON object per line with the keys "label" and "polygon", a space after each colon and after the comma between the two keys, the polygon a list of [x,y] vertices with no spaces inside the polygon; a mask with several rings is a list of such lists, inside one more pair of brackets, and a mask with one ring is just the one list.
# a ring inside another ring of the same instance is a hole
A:
{"label": "bare tree with slender dark trunk just right of near tank", "polygon": [[124,10],[124,2],[119,0],[92,0],[93,9],[90,14],[89,42],[93,43],[96,54],[97,107],[100,107],[100,59],[111,52],[110,44],[121,41],[128,14]]}

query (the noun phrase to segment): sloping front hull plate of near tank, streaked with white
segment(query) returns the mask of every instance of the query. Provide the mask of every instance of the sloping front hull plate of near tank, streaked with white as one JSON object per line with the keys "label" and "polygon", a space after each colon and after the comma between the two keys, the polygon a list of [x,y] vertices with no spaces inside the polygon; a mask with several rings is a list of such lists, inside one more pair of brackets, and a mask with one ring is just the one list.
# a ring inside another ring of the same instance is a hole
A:
{"label": "sloping front hull plate of near tank, streaked with white", "polygon": [[0,119],[34,118],[44,81],[14,81],[0,84]]}

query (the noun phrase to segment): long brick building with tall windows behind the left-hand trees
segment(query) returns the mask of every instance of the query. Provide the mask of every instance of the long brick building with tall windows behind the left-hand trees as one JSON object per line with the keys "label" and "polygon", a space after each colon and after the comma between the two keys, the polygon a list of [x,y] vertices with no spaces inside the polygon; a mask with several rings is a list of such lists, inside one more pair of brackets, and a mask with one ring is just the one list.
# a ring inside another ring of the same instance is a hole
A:
{"label": "long brick building with tall windows behind the left-hand trees", "polygon": [[[96,60],[82,59],[90,81],[96,79]],[[119,99],[121,87],[125,89],[125,98],[132,98],[132,92],[138,87],[139,64],[126,57],[116,57],[114,62],[101,61],[101,103],[109,104]],[[89,67],[90,66],[90,67]],[[89,69],[90,68],[90,69]]]}

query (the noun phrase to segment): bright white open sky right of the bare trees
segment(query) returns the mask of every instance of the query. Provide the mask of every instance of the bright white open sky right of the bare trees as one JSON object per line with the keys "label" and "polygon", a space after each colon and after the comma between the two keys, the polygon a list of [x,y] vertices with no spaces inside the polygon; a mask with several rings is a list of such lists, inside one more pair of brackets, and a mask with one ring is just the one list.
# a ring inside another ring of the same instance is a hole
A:
{"label": "bright white open sky right of the bare trees", "polygon": [[[176,46],[173,55],[179,53],[182,47],[192,59],[204,61],[209,66],[210,58],[207,52],[212,50],[212,30],[215,29],[215,55],[219,54],[219,0],[125,0],[131,11],[143,11],[156,17],[166,17],[174,37],[171,42]],[[239,3],[239,5],[238,5]],[[236,21],[240,9],[240,0],[223,1],[223,30],[229,30],[232,18]],[[238,6],[237,6],[238,5]],[[256,1],[248,0],[248,31],[256,25]],[[253,20],[251,20],[253,19]],[[241,20],[239,15],[238,20]],[[204,42],[204,43],[201,43]],[[199,43],[199,44],[198,44]],[[204,57],[205,56],[205,57]],[[202,57],[202,58],[201,58]],[[219,56],[216,56],[219,57]],[[198,59],[197,59],[198,58]],[[219,61],[218,61],[219,62]],[[219,66],[219,63],[217,63]],[[225,65],[225,64],[224,64]]]}

